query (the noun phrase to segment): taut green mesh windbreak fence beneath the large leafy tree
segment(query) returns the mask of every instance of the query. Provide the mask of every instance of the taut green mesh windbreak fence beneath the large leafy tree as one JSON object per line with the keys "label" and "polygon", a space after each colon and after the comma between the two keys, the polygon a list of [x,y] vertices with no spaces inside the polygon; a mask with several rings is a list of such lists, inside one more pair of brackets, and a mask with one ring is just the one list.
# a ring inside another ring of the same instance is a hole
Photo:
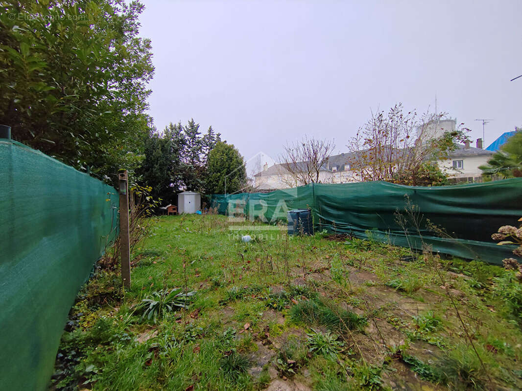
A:
{"label": "taut green mesh windbreak fence beneath the large leafy tree", "polygon": [[6,139],[0,167],[0,389],[45,390],[69,309],[116,234],[118,196]]}

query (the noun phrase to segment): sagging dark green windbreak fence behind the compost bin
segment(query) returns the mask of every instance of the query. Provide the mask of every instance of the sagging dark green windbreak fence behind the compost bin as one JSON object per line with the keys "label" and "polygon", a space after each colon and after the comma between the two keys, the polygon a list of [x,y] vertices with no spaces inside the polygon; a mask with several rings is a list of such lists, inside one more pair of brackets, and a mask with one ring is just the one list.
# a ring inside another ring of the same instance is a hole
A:
{"label": "sagging dark green windbreak fence behind the compost bin", "polygon": [[[522,216],[522,178],[482,184],[412,187],[388,182],[311,184],[270,193],[214,194],[220,214],[244,215],[268,223],[286,221],[286,211],[312,210],[316,229],[391,242],[397,246],[501,264],[513,247],[497,246],[491,234],[517,225]],[[406,212],[418,211],[417,222]],[[399,224],[399,213],[407,222]]]}

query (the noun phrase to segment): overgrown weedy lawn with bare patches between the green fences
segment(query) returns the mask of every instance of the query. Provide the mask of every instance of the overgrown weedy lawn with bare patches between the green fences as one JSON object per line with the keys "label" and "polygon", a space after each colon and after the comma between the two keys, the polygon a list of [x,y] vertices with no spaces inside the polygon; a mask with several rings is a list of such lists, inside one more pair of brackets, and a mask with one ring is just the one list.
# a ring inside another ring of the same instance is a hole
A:
{"label": "overgrown weedy lawn with bare patches between the green fences", "polygon": [[[480,286],[441,271],[490,384],[436,274],[422,260],[397,261],[407,250],[278,231],[243,243],[259,231],[238,238],[228,225],[215,215],[157,218],[133,254],[130,289],[113,272],[96,273],[70,312],[51,389],[260,390],[274,374],[315,390],[386,389],[399,376],[385,365],[388,335],[377,326],[386,321],[405,346],[420,339],[444,358],[403,352],[417,382],[522,387],[519,302],[509,296],[518,286],[498,267],[444,264]],[[350,280],[360,271],[375,278]],[[384,286],[393,280],[397,292]]]}

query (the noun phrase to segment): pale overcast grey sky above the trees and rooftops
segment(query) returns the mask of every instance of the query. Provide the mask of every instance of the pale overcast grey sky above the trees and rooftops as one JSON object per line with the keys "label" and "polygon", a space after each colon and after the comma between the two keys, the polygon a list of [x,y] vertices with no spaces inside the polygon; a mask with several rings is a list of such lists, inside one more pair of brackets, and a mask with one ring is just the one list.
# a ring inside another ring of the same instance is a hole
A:
{"label": "pale overcast grey sky above the trees and rooftops", "polygon": [[522,1],[145,0],[141,35],[162,129],[193,117],[250,158],[303,135],[336,152],[370,116],[404,102],[489,145],[522,126]]}

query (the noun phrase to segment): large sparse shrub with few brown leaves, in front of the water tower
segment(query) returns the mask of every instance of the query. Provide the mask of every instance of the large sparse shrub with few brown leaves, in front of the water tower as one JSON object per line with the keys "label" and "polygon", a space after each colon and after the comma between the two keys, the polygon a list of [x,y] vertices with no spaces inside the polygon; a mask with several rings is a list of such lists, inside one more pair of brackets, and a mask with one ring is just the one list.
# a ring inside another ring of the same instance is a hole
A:
{"label": "large sparse shrub with few brown leaves, in front of the water tower", "polygon": [[361,181],[384,180],[405,185],[432,185],[447,177],[435,163],[467,139],[460,127],[434,137],[434,123],[443,114],[405,113],[401,103],[371,113],[370,120],[347,145],[350,166]]}

